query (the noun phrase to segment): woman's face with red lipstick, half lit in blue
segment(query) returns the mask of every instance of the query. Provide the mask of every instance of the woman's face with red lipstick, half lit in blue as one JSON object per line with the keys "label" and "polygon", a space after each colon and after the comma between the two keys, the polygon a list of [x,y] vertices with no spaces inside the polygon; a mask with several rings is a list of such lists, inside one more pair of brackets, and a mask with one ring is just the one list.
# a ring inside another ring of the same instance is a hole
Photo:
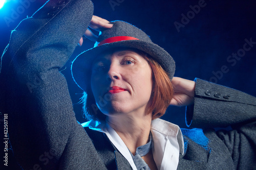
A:
{"label": "woman's face with red lipstick, half lit in blue", "polygon": [[92,66],[92,92],[102,113],[147,114],[152,92],[152,70],[132,50],[100,55]]}

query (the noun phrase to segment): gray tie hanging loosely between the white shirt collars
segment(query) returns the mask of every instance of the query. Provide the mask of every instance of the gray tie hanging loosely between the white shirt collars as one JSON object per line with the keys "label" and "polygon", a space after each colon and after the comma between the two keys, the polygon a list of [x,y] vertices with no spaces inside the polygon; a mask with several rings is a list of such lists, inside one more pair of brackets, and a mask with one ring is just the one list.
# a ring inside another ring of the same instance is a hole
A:
{"label": "gray tie hanging loosely between the white shirt collars", "polygon": [[136,149],[135,156],[131,153],[133,157],[134,164],[136,165],[138,170],[150,170],[150,167],[146,164],[146,162],[141,158],[145,156],[151,150],[151,134],[150,141]]}

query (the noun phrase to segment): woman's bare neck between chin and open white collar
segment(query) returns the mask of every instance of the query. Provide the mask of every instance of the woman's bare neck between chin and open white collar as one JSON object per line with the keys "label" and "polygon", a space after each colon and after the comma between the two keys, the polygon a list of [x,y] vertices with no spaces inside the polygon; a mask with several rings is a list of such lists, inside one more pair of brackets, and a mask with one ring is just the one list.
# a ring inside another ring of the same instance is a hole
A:
{"label": "woman's bare neck between chin and open white collar", "polygon": [[133,115],[135,116],[127,116],[126,114],[108,116],[106,121],[117,132],[130,152],[135,154],[136,148],[148,142],[152,114]]}

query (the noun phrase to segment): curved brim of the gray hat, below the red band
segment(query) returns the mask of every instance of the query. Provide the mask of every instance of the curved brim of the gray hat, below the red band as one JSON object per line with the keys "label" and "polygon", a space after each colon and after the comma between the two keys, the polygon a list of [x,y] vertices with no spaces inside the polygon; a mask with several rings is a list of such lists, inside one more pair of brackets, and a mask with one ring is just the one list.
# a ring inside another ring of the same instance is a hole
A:
{"label": "curved brim of the gray hat, below the red band", "polygon": [[162,47],[153,42],[125,40],[106,43],[90,48],[75,58],[71,66],[72,76],[76,84],[82,90],[87,91],[90,86],[91,66],[94,59],[105,50],[116,47],[136,48],[147,53],[162,66],[162,68],[167,72],[170,80],[173,79],[175,61]]}

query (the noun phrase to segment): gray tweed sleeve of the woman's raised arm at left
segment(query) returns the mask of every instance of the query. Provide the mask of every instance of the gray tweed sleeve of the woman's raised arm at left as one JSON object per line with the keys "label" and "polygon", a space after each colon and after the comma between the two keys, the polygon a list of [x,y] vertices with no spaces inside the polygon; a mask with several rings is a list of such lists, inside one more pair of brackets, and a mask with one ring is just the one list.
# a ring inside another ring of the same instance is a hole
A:
{"label": "gray tweed sleeve of the woman's raised arm at left", "polygon": [[0,111],[8,114],[12,150],[25,169],[105,168],[59,72],[92,14],[89,0],[52,0],[12,31],[1,58]]}

